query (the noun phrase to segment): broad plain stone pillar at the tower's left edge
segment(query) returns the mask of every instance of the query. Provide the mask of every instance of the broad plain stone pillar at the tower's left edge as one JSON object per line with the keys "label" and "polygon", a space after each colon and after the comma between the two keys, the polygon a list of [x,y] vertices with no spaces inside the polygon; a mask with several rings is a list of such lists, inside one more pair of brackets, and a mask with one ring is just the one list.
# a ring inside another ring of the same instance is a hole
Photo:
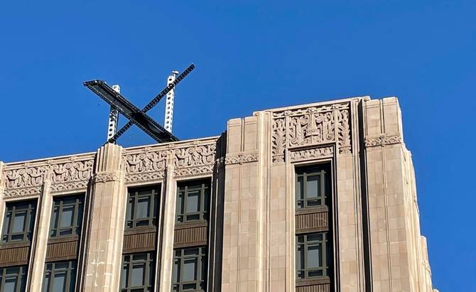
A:
{"label": "broad plain stone pillar at the tower's left edge", "polygon": [[258,117],[228,121],[221,291],[263,291],[264,224]]}

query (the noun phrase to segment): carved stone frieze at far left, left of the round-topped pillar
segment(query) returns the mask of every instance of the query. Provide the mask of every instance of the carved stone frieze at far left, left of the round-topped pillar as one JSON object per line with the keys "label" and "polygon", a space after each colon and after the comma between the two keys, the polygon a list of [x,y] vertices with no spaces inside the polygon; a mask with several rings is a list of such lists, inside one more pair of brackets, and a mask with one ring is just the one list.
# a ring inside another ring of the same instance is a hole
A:
{"label": "carved stone frieze at far left, left of the round-topped pillar", "polygon": [[18,197],[41,193],[45,175],[51,175],[51,191],[81,190],[87,187],[94,166],[94,153],[67,158],[7,164],[5,195]]}

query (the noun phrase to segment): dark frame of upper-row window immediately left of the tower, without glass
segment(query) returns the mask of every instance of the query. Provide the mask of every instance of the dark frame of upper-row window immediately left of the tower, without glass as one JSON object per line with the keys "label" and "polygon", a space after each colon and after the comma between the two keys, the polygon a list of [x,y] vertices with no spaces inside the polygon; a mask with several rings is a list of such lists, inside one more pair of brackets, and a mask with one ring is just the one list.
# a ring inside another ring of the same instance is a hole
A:
{"label": "dark frame of upper-row window immediately left of the tower, without glass", "polygon": [[[193,188],[195,185],[200,185],[199,188]],[[191,188],[191,190],[190,190]],[[210,194],[212,183],[210,179],[200,180],[186,180],[177,183],[177,195],[175,198],[175,224],[186,225],[195,222],[207,222],[209,216]],[[199,210],[197,212],[187,212],[188,194],[200,191]],[[180,194],[183,193],[183,198],[180,200]],[[181,205],[178,205],[181,202]],[[188,216],[198,215],[198,219],[188,219]],[[182,220],[182,221],[180,221]]]}

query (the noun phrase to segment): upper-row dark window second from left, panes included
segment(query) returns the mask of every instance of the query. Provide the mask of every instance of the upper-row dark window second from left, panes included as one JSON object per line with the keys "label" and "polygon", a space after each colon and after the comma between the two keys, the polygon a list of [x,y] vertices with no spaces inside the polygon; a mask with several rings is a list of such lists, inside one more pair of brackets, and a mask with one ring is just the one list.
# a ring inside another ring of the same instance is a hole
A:
{"label": "upper-row dark window second from left, panes included", "polygon": [[50,238],[79,236],[83,207],[84,198],[80,195],[54,198]]}

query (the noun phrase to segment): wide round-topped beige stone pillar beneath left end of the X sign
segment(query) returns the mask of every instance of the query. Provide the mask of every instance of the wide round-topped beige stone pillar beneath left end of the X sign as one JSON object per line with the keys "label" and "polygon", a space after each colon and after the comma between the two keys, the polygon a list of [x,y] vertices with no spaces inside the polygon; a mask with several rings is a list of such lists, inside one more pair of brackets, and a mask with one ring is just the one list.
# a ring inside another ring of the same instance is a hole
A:
{"label": "wide round-topped beige stone pillar beneath left end of the X sign", "polygon": [[127,201],[121,151],[114,144],[97,151],[82,291],[119,291]]}

